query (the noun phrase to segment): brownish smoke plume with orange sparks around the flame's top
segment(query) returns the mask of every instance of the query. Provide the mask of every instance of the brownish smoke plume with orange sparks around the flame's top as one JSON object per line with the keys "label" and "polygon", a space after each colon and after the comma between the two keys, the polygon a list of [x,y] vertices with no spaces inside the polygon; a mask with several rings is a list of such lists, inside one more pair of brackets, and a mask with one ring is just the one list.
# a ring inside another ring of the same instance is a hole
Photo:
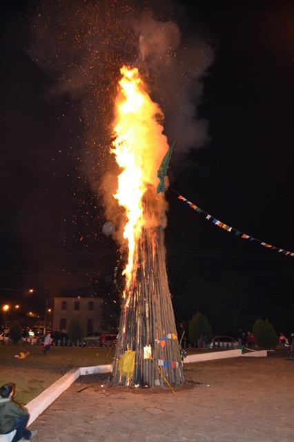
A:
{"label": "brownish smoke plume with orange sparks around the flame's top", "polygon": [[198,117],[197,105],[213,52],[199,38],[182,43],[179,25],[170,21],[168,8],[164,11],[159,18],[147,1],[61,0],[40,5],[32,20],[30,56],[54,79],[49,95],[68,97],[68,115],[82,133],[77,167],[93,191],[103,195],[106,217],[117,225],[124,214],[112,198],[117,165],[109,148],[123,64],[143,73],[164,112],[168,142],[177,143],[179,162],[208,140],[208,122]]}

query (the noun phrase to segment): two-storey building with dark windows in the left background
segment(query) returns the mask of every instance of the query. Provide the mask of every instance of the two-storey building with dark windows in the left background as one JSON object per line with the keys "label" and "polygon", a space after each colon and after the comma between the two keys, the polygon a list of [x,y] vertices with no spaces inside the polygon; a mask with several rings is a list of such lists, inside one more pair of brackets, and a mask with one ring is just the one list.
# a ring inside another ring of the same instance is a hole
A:
{"label": "two-storey building with dark windows in the left background", "polygon": [[103,298],[53,298],[54,309],[52,331],[68,332],[68,325],[73,319],[81,319],[85,325],[86,334],[101,332]]}

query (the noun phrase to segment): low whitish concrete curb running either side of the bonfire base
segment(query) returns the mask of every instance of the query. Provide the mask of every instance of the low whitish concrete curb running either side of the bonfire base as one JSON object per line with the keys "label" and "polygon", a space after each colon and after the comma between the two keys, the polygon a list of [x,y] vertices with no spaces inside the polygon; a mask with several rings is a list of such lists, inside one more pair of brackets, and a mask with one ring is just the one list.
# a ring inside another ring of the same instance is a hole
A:
{"label": "low whitish concrete curb running either side of the bonfire base", "polygon": [[[255,356],[264,357],[267,356],[266,350],[261,350],[259,352],[250,352],[242,354],[240,349],[235,350],[223,350],[222,352],[210,352],[204,354],[190,354],[184,360],[184,363],[193,362],[203,362],[203,361],[213,361],[215,359],[224,358],[236,358],[239,356]],[[79,376],[84,376],[86,374],[95,373],[109,373],[111,371],[111,365],[94,365],[92,367],[79,367],[77,369],[71,369],[70,372],[62,376],[58,381],[46,388],[39,396],[32,399],[26,407],[30,412],[30,421],[28,425],[33,423],[37,417],[43,413],[46,408],[49,407],[63,392],[65,392],[72,383],[77,381]],[[14,432],[8,434],[0,434],[0,442],[11,442],[14,436]]]}

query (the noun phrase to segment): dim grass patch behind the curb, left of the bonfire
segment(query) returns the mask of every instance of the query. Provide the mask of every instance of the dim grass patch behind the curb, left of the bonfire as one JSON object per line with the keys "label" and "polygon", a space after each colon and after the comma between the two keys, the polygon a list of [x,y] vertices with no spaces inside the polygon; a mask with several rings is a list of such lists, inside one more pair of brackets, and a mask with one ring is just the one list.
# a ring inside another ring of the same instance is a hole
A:
{"label": "dim grass patch behind the curb, left of the bonfire", "polygon": [[[25,359],[14,358],[19,352],[30,352]],[[25,405],[52,383],[75,367],[112,363],[114,348],[52,347],[43,356],[42,347],[0,345],[0,385],[17,385],[17,402]]]}

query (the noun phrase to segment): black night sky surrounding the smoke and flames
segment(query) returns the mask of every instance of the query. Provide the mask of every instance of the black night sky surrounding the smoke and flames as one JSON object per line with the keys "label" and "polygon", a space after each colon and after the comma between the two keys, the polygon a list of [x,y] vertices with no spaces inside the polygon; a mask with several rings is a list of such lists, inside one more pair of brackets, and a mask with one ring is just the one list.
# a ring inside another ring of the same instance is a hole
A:
{"label": "black night sky surrounding the smoke and flames", "polygon": [[[67,2],[55,3],[64,10]],[[117,2],[109,3],[116,8]],[[197,109],[197,122],[208,122],[207,130],[202,140],[195,140],[196,148],[181,144],[186,133],[178,131],[171,187],[235,229],[294,251],[293,3],[159,3],[160,7],[142,1],[138,8],[148,5],[157,20],[176,21],[183,45],[194,38],[201,41],[205,57],[199,63],[206,63],[195,86],[201,93],[194,97],[190,88],[190,102]],[[91,164],[95,155],[98,158],[97,169],[94,166],[87,175],[84,166],[85,133],[92,136],[90,124],[99,119],[99,112],[89,107],[84,111],[88,120],[83,119],[79,106],[90,101],[83,102],[75,93],[52,93],[56,70],[36,62],[36,46],[46,46],[47,39],[42,30],[38,41],[33,28],[39,5],[1,2],[0,274],[1,287],[20,290],[1,289],[1,303],[21,296],[27,300],[24,292],[30,287],[50,296],[101,294],[119,258],[118,245],[101,231],[106,216],[92,182],[93,176],[99,182],[111,162],[97,148],[90,153]],[[129,45],[128,57],[131,50]],[[124,58],[123,52],[119,57]],[[121,61],[119,57],[109,66]],[[170,70],[173,76],[176,72]],[[96,81],[99,88],[99,78]],[[155,81],[156,85],[155,98],[160,97]],[[177,119],[177,108],[160,99],[171,137],[173,124],[168,122]],[[111,99],[104,95],[106,107],[107,102]],[[107,112],[101,111],[99,124],[104,124]],[[291,332],[294,258],[215,227],[177,200],[173,191],[166,196],[168,278],[177,320],[188,320],[187,311],[199,307],[185,295],[189,281],[196,278],[197,289],[197,278],[217,282],[232,276],[251,278],[248,311],[254,306],[255,318],[268,317],[276,327]],[[249,327],[254,317],[248,311],[243,324]],[[209,309],[204,313],[209,318]]]}

